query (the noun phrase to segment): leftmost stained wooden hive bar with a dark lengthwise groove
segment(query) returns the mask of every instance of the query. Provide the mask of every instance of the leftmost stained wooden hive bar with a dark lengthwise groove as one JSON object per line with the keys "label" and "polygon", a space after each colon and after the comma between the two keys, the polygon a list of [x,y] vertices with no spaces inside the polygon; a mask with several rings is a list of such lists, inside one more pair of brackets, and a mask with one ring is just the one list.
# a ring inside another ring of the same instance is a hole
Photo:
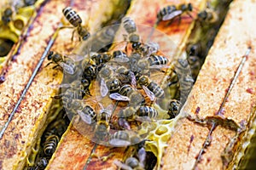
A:
{"label": "leftmost stained wooden hive bar with a dark lengthwise groove", "polygon": [[[69,5],[69,1],[50,1],[44,8],[38,18],[34,21],[29,37],[20,48],[20,54],[15,56],[15,62],[9,66],[6,75],[6,81],[0,85],[1,90],[1,127],[7,121],[9,113],[14,109],[15,103],[20,98],[22,90],[32,75],[32,71],[38,63],[38,60],[44,53],[44,49],[49,42],[50,37],[55,30],[61,18],[63,17],[62,8]],[[102,10],[100,1],[76,1],[74,8],[80,11],[86,11],[81,16],[89,16],[90,8],[96,12],[91,17],[96,20],[98,25],[90,26],[91,30],[97,29],[99,23],[108,20],[109,16],[102,16],[108,8]],[[101,16],[101,17],[100,17]],[[95,17],[95,18],[94,18]],[[85,24],[85,23],[83,23]],[[58,49],[58,52],[67,53],[73,50],[78,43],[71,42],[72,29],[63,29],[55,42],[52,49]],[[45,64],[49,61],[45,61]],[[38,76],[32,82],[25,99],[21,102],[18,111],[15,113],[12,121],[0,140],[0,144],[4,147],[0,150],[0,168],[11,169],[20,168],[26,162],[32,150],[38,135],[42,134],[42,130],[46,126],[45,120],[47,110],[51,103],[51,97],[55,96],[58,88],[55,85],[61,83],[61,71],[52,70],[52,65],[47,68],[41,68]]]}

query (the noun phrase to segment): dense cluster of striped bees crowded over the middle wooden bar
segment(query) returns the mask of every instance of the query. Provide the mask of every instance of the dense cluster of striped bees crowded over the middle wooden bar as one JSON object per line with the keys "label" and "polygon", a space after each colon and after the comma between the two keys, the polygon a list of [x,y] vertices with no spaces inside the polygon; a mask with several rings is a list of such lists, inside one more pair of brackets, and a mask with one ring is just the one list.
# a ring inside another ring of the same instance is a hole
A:
{"label": "dense cluster of striped bees crowded over the middle wooden bar", "polygon": [[[63,14],[75,28],[78,28],[78,32],[82,29],[82,20],[72,8],[64,8]],[[159,82],[155,82],[155,78],[151,77],[157,72],[160,73],[160,77],[164,77],[164,70],[168,69],[169,59],[160,53],[160,45],[156,42],[144,43],[137,33],[136,23],[129,17],[122,19],[121,26],[125,31],[125,49],[114,49],[112,52],[104,53],[88,51],[85,56],[54,52],[48,55],[49,64],[55,64],[54,68],[60,67],[67,73],[67,77],[71,77],[69,85],[62,84],[65,90],[61,93],[67,114],[79,116],[80,121],[92,127],[93,139],[97,142],[118,146],[132,144],[133,137],[137,137],[137,142],[140,141],[141,137],[131,134],[130,131],[139,130],[138,125],[141,122],[158,119],[159,113],[154,108],[154,103],[168,98],[166,88],[170,88],[168,85],[160,87]],[[88,32],[86,38],[89,35]],[[177,67],[177,71],[182,69],[182,66]],[[175,77],[176,82],[170,83],[179,83],[178,75]],[[96,110],[95,105],[85,102],[86,99],[90,99],[91,87],[99,87],[96,89],[99,96],[96,102],[92,103],[97,103],[101,109]],[[104,108],[101,100],[106,98],[110,99],[112,104]],[[113,103],[120,103],[123,108],[113,111]],[[170,118],[177,116],[179,105],[177,102],[177,105],[173,105],[174,109],[167,109],[166,115],[169,114]],[[113,125],[114,118],[118,121]],[[122,133],[117,133],[119,130]]]}

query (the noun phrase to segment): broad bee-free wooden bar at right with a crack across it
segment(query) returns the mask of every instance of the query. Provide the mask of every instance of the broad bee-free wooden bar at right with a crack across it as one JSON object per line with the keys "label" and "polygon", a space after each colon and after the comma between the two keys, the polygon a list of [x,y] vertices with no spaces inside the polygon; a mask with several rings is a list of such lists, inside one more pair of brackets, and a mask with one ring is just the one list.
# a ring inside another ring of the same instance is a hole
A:
{"label": "broad bee-free wooden bar at right with a crack across it", "polygon": [[[255,5],[254,1],[244,2],[239,0],[231,4],[230,12],[224,21],[224,25],[218,32],[218,36],[207,56],[205,64],[202,66],[201,72],[197,77],[195,86],[189,94],[188,105],[185,105],[183,108],[189,115],[201,118],[215,116],[241,62],[242,56],[246,53],[248,46],[251,46],[253,49],[247,57],[227,103],[224,105],[223,116],[230,118],[237,125],[241,125],[241,122],[247,125],[250,117],[253,116],[251,111],[253,105],[255,105],[256,87],[252,80],[255,79],[254,72],[256,67],[254,65],[255,43],[253,42],[255,35],[251,34],[251,32],[255,29],[255,26],[250,24],[251,21],[248,16],[252,17]],[[195,127],[197,125],[192,124],[187,133],[182,132],[183,139],[187,140],[179,139],[180,131],[173,135],[169,141],[170,146],[167,149],[166,156],[163,158],[164,169],[169,167],[176,169],[188,164],[191,166],[195,162],[195,155],[190,156],[190,161],[179,161],[178,163],[177,161],[169,161],[177,156],[172,151],[174,146],[177,144],[187,144],[191,135],[189,132]],[[222,169],[222,152],[235,134],[235,131],[224,129],[224,127],[217,127],[212,133],[212,144],[205,150],[206,153],[202,155],[197,167],[199,169]],[[194,135],[198,135],[198,133],[194,133]],[[205,137],[204,135],[200,136]],[[196,147],[193,148],[194,153],[199,153],[203,142],[201,141],[201,143],[196,144]],[[238,143],[238,147],[239,144],[241,143]],[[230,156],[232,157],[232,151],[236,151],[236,145],[230,151]],[[182,154],[185,153],[186,150],[183,150]]]}

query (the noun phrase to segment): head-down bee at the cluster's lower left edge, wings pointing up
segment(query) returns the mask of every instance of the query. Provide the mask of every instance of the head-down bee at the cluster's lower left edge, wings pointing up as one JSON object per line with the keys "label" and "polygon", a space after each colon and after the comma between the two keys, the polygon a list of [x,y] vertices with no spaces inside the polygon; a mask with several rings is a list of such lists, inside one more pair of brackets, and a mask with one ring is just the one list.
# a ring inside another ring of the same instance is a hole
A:
{"label": "head-down bee at the cluster's lower left edge, wings pointing up", "polygon": [[108,132],[109,132],[109,119],[111,116],[112,105],[109,105],[107,109],[101,110],[97,114],[97,122],[96,122],[96,130],[95,130],[95,137],[96,139],[106,139],[108,138]]}

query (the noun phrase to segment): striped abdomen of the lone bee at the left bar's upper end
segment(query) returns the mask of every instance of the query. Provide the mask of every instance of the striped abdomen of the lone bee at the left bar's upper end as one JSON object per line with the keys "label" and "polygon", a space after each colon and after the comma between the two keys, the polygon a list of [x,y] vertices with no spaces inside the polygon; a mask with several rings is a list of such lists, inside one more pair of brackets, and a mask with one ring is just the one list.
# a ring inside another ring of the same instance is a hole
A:
{"label": "striped abdomen of the lone bee at the left bar's upper end", "polygon": [[79,26],[82,23],[82,19],[80,18],[79,14],[77,14],[73,8],[67,7],[62,10],[64,16],[67,20],[72,24],[74,27]]}

